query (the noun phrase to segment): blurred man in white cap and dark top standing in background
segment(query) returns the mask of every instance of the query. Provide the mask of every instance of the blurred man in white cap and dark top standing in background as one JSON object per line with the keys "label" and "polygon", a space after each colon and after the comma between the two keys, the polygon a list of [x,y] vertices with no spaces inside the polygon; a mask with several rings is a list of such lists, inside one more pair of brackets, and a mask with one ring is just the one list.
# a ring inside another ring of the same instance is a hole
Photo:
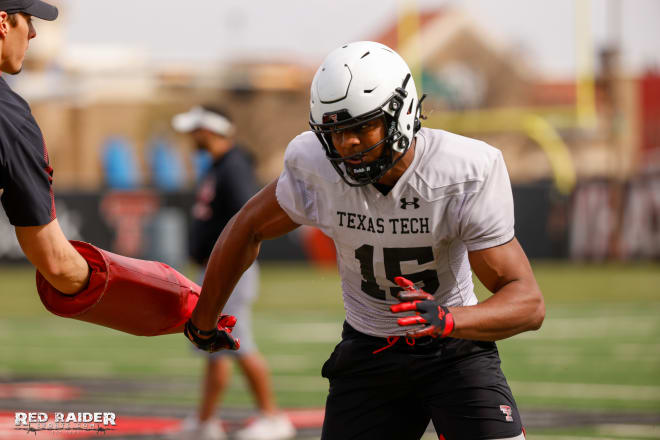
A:
{"label": "blurred man in white cap and dark top standing in background", "polygon": [[[234,124],[227,113],[213,106],[197,106],[172,120],[175,130],[189,133],[199,150],[212,159],[202,177],[192,209],[189,255],[205,267],[220,232],[243,205],[256,193],[257,184],[250,157],[234,142]],[[225,433],[213,414],[231,376],[231,357],[245,373],[260,416],[236,433],[241,440],[285,439],[295,435],[288,418],[279,413],[273,396],[268,366],[257,350],[252,335],[251,306],[257,296],[259,268],[255,262],[239,280],[225,308],[239,322],[233,335],[240,339],[238,351],[208,355],[199,413],[187,419],[182,434],[195,439],[221,439]]]}

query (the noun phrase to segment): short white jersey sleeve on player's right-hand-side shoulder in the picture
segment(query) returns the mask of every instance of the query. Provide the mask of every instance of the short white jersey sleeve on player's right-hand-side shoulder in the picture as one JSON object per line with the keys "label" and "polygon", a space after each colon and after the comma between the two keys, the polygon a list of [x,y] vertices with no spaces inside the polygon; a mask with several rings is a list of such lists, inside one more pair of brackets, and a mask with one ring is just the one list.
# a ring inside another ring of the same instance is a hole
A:
{"label": "short white jersey sleeve on player's right-hand-side shoulder in the picture", "polygon": [[499,150],[480,190],[467,196],[459,221],[460,237],[468,251],[499,246],[513,239],[513,194]]}

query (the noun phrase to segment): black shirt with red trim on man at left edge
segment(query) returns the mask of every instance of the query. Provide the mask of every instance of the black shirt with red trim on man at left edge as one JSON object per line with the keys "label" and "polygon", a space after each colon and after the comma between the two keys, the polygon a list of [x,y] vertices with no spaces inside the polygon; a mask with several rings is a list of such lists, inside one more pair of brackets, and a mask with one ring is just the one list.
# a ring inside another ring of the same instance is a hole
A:
{"label": "black shirt with red trim on man at left edge", "polygon": [[0,77],[0,188],[14,226],[40,226],[55,219],[53,169],[30,106]]}

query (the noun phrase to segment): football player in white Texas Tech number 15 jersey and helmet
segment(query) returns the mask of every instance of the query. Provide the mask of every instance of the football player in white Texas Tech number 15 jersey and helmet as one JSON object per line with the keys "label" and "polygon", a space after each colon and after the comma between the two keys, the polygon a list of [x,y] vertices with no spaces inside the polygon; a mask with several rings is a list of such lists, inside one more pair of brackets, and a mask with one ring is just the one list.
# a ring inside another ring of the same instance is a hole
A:
{"label": "football player in white Texas Tech number 15 jersey and helmet", "polygon": [[[446,440],[524,439],[494,341],[538,329],[545,308],[514,235],[506,166],[484,142],[422,128],[422,99],[382,44],[328,55],[311,131],[222,232],[189,334],[213,349],[261,241],[316,226],[334,240],[346,311],[322,369],[322,438],[418,439],[432,420]],[[493,292],[483,302],[472,272]]]}

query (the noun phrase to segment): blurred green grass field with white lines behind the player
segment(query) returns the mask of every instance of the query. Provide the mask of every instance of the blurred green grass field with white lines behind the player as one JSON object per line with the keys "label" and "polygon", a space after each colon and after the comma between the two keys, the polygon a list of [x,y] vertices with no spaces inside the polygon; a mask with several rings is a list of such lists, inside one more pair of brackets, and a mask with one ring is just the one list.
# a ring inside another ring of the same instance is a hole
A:
{"label": "blurred green grass field with white lines behind the player", "polygon": [[[534,270],[546,298],[545,323],[498,344],[518,405],[660,413],[660,266],[539,262]],[[54,317],[40,304],[33,279],[28,268],[0,268],[1,380],[121,379],[129,392],[92,387],[88,400],[194,407],[202,358],[183,336],[139,338]],[[280,405],[323,406],[320,368],[343,320],[336,272],[264,264],[254,313]],[[225,405],[251,404],[235,376]],[[660,438],[653,427],[608,426],[542,430],[530,438]]]}

